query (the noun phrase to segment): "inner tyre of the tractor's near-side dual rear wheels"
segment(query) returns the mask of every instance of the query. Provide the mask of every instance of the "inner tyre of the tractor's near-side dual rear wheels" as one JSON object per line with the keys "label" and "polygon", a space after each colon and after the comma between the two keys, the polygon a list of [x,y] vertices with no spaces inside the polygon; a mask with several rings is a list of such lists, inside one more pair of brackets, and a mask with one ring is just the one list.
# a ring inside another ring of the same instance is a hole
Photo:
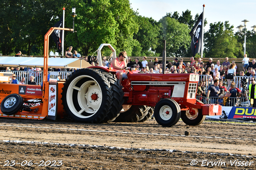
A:
{"label": "inner tyre of the tractor's near-side dual rear wheels", "polygon": [[115,74],[111,74],[108,72],[102,72],[102,74],[104,74],[104,76],[106,78],[108,78],[108,81],[110,82],[110,86],[111,86],[111,91],[112,91],[112,107],[110,109],[110,112],[108,113],[108,115],[104,118],[104,120],[102,121],[102,123],[106,123],[106,122],[112,122],[116,119],[116,117],[118,117],[119,112],[122,110],[122,105],[124,103],[124,92],[122,90],[123,86],[121,86],[119,84],[119,81],[116,78]]}

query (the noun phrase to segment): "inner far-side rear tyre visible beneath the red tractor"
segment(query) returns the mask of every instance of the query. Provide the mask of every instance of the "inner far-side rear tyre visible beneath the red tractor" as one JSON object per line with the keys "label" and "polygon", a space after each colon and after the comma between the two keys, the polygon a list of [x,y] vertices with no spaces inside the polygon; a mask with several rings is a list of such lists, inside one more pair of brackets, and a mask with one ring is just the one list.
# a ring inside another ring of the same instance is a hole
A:
{"label": "inner far-side rear tyre visible beneath the red tractor", "polygon": [[146,111],[146,106],[124,105],[114,122],[137,122]]}

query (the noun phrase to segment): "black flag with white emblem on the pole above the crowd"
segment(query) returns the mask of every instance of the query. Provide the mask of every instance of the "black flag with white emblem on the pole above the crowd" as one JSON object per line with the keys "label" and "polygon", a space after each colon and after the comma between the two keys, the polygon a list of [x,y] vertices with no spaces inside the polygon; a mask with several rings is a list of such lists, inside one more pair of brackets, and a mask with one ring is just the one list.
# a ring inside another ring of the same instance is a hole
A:
{"label": "black flag with white emblem on the pole above the crowd", "polygon": [[199,16],[196,24],[190,31],[189,35],[191,36],[191,50],[193,57],[195,57],[196,53],[199,53],[201,50],[201,41],[202,41],[202,23],[203,23],[203,13]]}

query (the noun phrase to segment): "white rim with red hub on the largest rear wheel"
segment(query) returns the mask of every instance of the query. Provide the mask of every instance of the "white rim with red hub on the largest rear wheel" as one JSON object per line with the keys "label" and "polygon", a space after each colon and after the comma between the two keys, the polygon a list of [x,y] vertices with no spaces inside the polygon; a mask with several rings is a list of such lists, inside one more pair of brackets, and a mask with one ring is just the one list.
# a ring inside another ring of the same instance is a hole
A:
{"label": "white rim with red hub on the largest rear wheel", "polygon": [[[84,82],[80,87],[76,86],[76,83],[83,79],[90,78],[92,80],[88,80]],[[73,103],[73,92],[74,90],[78,90],[78,104],[81,107],[80,111],[77,111],[74,103]],[[100,108],[102,104],[102,90],[98,85],[98,82],[92,78],[91,76],[82,75],[76,77],[68,86],[66,100],[68,103],[68,107],[70,111],[80,118],[88,118],[92,117]],[[82,115],[82,113],[88,113],[88,115]]]}

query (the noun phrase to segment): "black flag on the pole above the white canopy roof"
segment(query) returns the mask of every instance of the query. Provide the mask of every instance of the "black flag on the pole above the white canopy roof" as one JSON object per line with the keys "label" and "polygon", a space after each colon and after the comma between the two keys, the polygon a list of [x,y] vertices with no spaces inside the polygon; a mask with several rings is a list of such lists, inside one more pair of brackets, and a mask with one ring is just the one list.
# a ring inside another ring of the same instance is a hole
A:
{"label": "black flag on the pole above the white canopy roof", "polygon": [[[55,25],[53,25],[53,27],[61,27],[62,28],[62,21],[63,21],[63,17],[61,17],[60,20],[57,23],[55,23]],[[62,30],[55,29],[51,35],[57,45],[58,52],[61,53],[62,52],[62,44],[61,44],[62,43]]]}

